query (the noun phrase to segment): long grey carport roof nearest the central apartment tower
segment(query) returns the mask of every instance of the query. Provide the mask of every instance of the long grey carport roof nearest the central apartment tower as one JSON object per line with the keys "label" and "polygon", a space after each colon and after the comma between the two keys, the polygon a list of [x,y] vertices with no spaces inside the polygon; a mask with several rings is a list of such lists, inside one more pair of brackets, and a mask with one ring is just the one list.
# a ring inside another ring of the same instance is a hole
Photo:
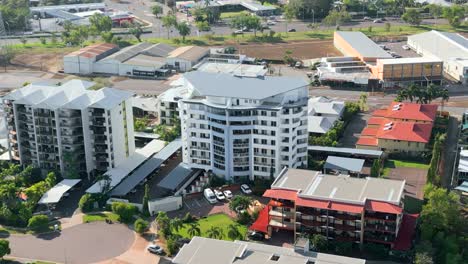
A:
{"label": "long grey carport roof nearest the central apartment tower", "polygon": [[112,196],[125,196],[135,186],[142,182],[148,177],[153,171],[163,164],[170,156],[172,156],[177,150],[182,148],[182,140],[176,139],[165,146],[156,155],[145,161],[140,167],[138,167],[132,174],[126,177],[116,188],[111,192]]}

